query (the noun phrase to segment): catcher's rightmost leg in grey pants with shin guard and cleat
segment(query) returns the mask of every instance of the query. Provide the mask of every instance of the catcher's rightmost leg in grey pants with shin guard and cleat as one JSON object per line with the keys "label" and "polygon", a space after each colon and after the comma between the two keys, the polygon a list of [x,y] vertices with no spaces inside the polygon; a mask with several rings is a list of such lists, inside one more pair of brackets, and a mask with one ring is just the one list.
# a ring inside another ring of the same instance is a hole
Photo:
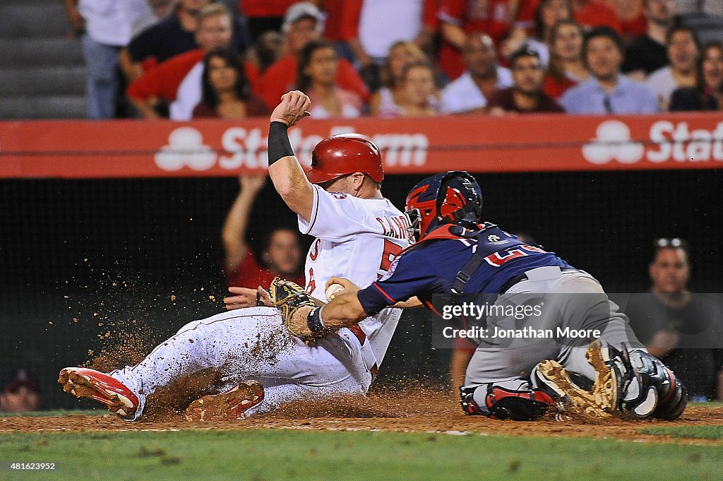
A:
{"label": "catcher's rightmost leg in grey pants with shin guard and cleat", "polygon": [[[568,383],[570,376],[566,373],[592,381],[589,391],[607,411],[622,406],[636,417],[653,415],[666,419],[683,413],[687,396],[680,380],[648,354],[630,328],[628,318],[609,300],[595,278],[584,272],[565,273],[551,290],[565,293],[553,295],[568,299],[560,318],[563,328],[599,331],[599,336],[562,338],[557,361],[565,372],[560,373],[557,366],[548,363],[544,369],[550,378],[557,376],[557,380],[568,385],[568,392],[583,397],[586,393],[578,388],[588,386]],[[555,370],[557,373],[552,373]]]}

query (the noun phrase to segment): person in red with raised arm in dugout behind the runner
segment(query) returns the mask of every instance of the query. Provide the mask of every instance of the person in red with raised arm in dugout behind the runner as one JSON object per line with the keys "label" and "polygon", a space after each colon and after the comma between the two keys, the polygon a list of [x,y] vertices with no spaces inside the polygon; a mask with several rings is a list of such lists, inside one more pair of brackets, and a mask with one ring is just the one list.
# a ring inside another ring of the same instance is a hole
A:
{"label": "person in red with raised arm in dugout behind the runner", "polygon": [[303,257],[296,230],[275,228],[269,232],[262,252],[263,265],[257,262],[254,252],[247,244],[246,234],[251,209],[265,182],[266,177],[262,175],[239,176],[241,192],[223,224],[226,280],[229,286],[252,289],[262,286],[268,289],[273,278],[279,276],[304,286],[304,275],[300,273]]}

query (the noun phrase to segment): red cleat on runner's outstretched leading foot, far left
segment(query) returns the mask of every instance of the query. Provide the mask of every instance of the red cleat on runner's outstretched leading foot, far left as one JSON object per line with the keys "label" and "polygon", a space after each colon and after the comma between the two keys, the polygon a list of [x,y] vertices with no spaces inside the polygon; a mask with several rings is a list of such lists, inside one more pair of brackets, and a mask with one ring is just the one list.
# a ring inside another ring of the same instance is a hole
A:
{"label": "red cleat on runner's outstretched leading foot, far left", "polygon": [[77,398],[90,398],[108,406],[108,411],[130,420],[138,409],[137,396],[121,381],[85,367],[66,367],[61,370],[58,383],[63,391]]}

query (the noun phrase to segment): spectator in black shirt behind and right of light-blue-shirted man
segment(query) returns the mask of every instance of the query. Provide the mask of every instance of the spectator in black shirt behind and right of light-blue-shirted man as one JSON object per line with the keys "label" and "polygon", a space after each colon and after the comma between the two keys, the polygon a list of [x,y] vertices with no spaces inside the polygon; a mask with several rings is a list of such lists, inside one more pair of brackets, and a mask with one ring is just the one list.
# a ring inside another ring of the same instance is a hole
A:
{"label": "spectator in black shirt behind and right of light-blue-shirted man", "polygon": [[640,81],[668,64],[666,41],[668,30],[675,22],[675,2],[646,0],[645,13],[648,30],[630,43],[622,67],[628,77]]}

